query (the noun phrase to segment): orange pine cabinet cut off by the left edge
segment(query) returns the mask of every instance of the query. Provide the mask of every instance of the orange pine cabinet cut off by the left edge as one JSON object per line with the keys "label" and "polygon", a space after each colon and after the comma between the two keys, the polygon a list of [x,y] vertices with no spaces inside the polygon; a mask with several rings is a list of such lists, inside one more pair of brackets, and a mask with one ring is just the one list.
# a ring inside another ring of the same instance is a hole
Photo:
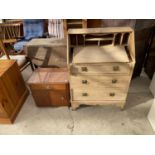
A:
{"label": "orange pine cabinet cut off by the left edge", "polygon": [[16,61],[0,60],[0,123],[13,123],[27,96]]}

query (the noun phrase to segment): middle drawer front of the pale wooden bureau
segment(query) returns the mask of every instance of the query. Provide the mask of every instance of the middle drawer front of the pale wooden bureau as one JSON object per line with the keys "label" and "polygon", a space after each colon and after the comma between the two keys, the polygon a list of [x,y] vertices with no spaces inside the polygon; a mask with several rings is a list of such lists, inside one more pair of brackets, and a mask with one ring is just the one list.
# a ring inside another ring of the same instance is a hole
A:
{"label": "middle drawer front of the pale wooden bureau", "polygon": [[126,90],[128,88],[130,81],[130,76],[71,76],[70,84],[71,88],[85,88],[85,89],[93,89],[93,88],[121,88],[121,90]]}

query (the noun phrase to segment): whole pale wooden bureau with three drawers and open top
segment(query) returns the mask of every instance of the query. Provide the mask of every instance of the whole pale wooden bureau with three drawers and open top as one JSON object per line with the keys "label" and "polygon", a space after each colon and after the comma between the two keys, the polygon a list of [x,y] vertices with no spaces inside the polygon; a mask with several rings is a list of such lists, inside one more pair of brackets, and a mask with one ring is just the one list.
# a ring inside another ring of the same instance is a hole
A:
{"label": "whole pale wooden bureau with three drawers and open top", "polygon": [[70,29],[67,64],[71,106],[124,107],[134,65],[134,32],[129,27]]}

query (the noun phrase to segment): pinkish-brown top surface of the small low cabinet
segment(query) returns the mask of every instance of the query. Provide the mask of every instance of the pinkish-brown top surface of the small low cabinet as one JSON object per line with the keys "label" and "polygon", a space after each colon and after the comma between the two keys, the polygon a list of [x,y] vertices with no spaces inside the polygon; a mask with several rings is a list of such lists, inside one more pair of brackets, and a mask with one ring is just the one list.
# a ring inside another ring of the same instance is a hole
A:
{"label": "pinkish-brown top surface of the small low cabinet", "polygon": [[66,68],[39,68],[28,80],[28,84],[63,84],[68,83]]}

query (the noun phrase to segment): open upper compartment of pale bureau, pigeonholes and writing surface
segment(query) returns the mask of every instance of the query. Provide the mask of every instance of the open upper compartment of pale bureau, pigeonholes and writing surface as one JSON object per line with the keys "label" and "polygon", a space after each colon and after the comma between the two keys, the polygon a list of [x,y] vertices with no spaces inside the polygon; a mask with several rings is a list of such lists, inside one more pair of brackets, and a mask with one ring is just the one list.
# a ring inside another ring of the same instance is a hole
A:
{"label": "open upper compartment of pale bureau, pigeonholes and writing surface", "polygon": [[131,62],[131,32],[69,34],[69,63]]}

